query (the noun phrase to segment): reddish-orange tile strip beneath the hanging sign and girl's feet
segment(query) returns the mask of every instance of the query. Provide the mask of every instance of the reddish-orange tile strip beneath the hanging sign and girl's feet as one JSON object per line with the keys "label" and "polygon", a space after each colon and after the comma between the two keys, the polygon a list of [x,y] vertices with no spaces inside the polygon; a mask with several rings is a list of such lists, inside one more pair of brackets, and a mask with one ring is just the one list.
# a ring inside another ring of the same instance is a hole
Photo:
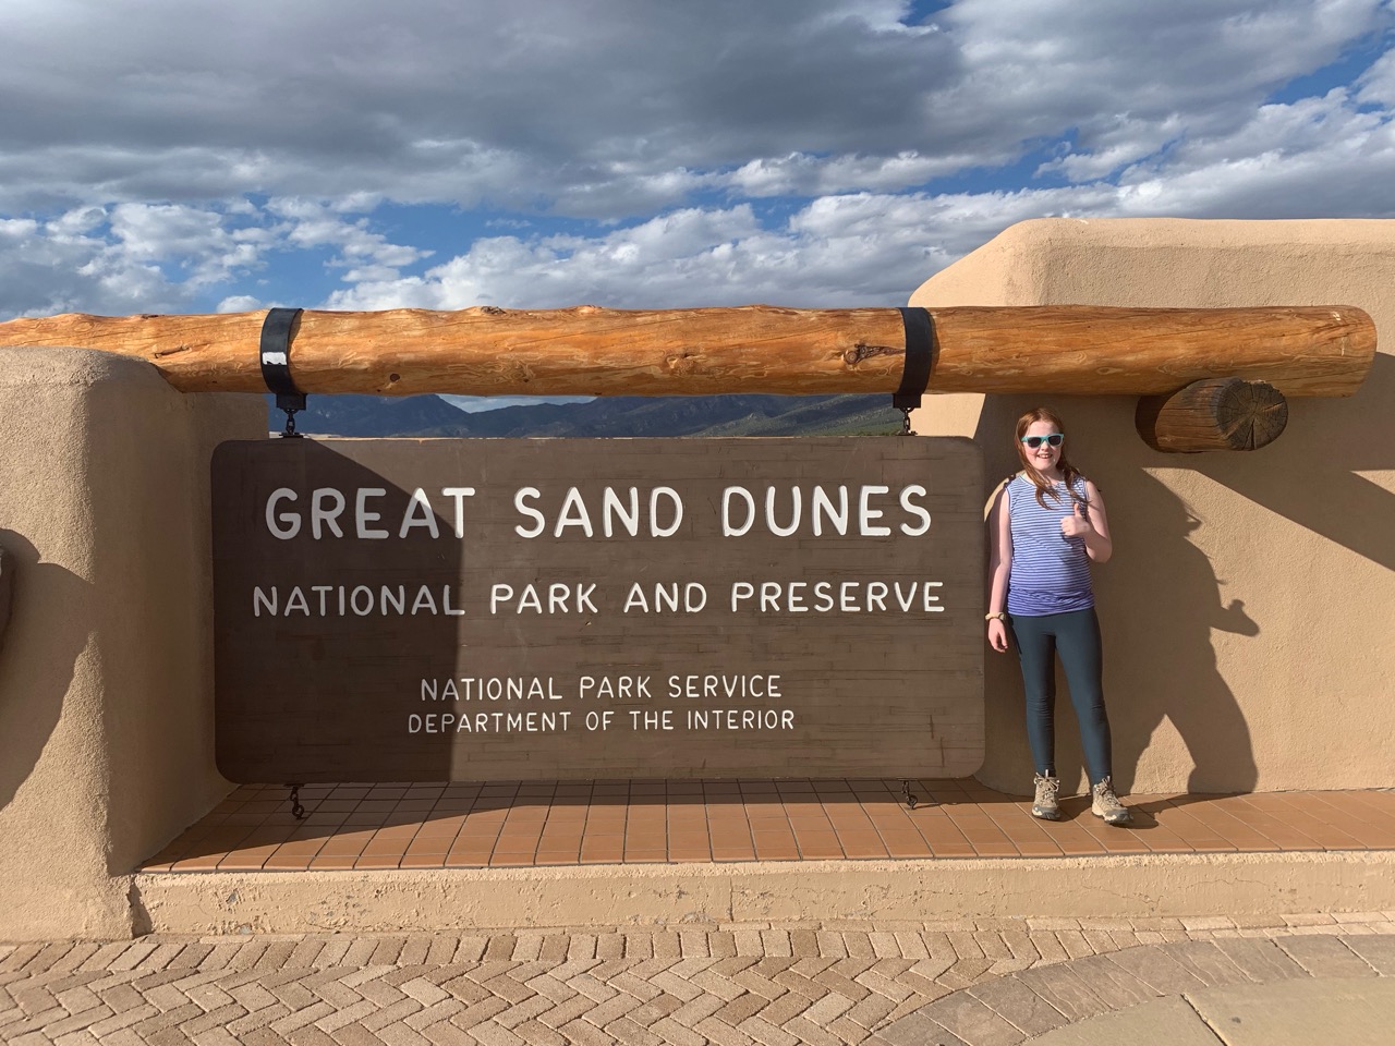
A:
{"label": "reddish-orange tile strip beneath the hanging sign and girl's feet", "polygon": [[576,863],[1052,858],[1395,849],[1395,792],[1129,796],[1110,828],[1084,798],[1057,823],[975,781],[596,781],[243,785],[144,872]]}

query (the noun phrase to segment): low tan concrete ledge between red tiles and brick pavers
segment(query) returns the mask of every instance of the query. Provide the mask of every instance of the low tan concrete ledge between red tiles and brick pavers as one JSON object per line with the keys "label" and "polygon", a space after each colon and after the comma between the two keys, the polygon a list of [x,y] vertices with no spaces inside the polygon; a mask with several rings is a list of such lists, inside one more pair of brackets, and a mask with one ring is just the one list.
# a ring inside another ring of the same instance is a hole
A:
{"label": "low tan concrete ledge between red tiles and brick pavers", "polygon": [[1395,909],[1395,851],[134,876],[155,933]]}

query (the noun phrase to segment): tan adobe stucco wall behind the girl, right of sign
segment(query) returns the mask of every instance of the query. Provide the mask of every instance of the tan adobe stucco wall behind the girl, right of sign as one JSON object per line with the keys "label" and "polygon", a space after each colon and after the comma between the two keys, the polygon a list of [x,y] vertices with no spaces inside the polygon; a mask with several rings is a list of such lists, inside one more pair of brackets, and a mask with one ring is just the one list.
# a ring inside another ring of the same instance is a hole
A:
{"label": "tan adobe stucco wall behind the girl, right of sign", "polygon": [[[1370,312],[1381,351],[1360,392],[1290,399],[1285,434],[1253,453],[1149,450],[1134,397],[936,396],[915,428],[975,437],[993,481],[1018,467],[1020,414],[1041,399],[1063,416],[1115,534],[1095,586],[1124,791],[1395,785],[1395,222],[1025,222],[911,304]],[[1064,689],[1057,706],[1073,782]],[[1030,792],[1011,654],[988,655],[986,713],[979,778]]]}

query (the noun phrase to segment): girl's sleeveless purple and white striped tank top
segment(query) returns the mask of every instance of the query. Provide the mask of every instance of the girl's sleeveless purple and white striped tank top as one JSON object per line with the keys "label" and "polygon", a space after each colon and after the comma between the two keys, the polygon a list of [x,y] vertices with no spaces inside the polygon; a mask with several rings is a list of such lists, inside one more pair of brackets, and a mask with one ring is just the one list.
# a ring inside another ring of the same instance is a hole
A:
{"label": "girl's sleeveless purple and white striped tank top", "polygon": [[[1071,487],[1085,501],[1085,480]],[[1074,513],[1076,502],[1064,483],[1055,487],[1060,499],[1045,495],[1036,501],[1036,487],[1018,473],[1007,484],[1007,517],[1013,529],[1013,569],[1007,577],[1007,612],[1024,616],[1069,614],[1095,605],[1089,586],[1089,554],[1085,540],[1067,538],[1060,522]]]}

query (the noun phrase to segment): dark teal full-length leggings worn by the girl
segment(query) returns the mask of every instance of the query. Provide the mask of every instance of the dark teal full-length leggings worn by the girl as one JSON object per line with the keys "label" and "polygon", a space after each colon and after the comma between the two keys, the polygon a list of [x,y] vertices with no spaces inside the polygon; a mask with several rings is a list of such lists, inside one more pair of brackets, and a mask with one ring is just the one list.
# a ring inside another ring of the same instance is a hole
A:
{"label": "dark teal full-length leggings worn by the girl", "polygon": [[1089,784],[1110,775],[1109,717],[1101,679],[1099,619],[1094,608],[1041,616],[1016,615],[1007,622],[1023,665],[1027,695],[1027,739],[1038,774],[1056,775],[1056,655],[1066,669],[1070,700],[1080,720]]}

